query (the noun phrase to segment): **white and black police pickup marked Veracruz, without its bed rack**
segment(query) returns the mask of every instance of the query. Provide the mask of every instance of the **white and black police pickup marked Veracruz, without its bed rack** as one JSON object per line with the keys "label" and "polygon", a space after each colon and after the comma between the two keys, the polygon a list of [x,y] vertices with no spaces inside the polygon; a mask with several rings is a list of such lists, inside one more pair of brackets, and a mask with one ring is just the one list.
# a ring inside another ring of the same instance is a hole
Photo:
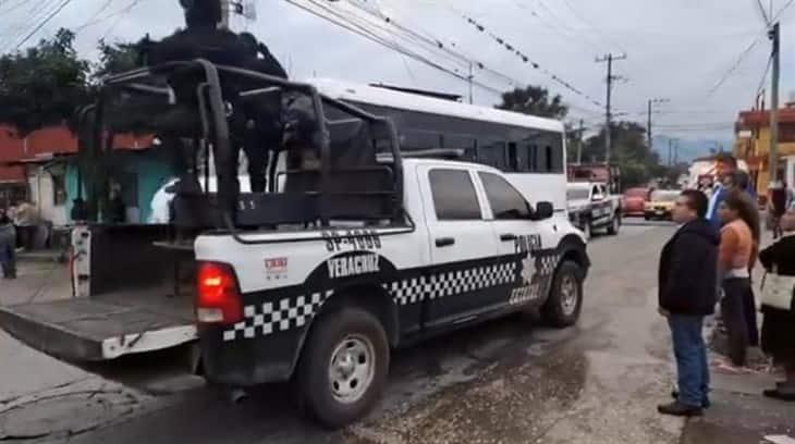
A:
{"label": "white and black police pickup marked Veracruz, without its bed rack", "polygon": [[295,378],[337,428],[378,400],[390,350],[516,311],[577,321],[582,233],[490,166],[404,159],[401,223],[230,234],[195,242],[206,378],[246,387]]}

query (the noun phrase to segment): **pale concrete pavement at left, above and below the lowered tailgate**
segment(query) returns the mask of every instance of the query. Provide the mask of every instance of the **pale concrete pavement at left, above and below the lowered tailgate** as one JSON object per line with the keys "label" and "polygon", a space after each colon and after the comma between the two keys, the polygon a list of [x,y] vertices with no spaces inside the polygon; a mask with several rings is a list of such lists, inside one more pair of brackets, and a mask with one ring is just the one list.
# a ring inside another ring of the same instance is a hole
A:
{"label": "pale concrete pavement at left, above and below the lowered tailgate", "polygon": [[[0,305],[71,297],[63,264],[20,263]],[[139,411],[151,398],[40,354],[0,330],[0,441],[60,442]]]}

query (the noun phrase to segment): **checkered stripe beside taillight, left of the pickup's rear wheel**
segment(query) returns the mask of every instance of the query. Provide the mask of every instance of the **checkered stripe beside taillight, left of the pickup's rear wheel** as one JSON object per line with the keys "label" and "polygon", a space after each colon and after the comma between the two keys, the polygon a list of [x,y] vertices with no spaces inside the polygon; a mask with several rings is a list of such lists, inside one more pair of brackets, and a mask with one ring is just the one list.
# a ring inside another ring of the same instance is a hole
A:
{"label": "checkered stripe beside taillight, left of the pickup's rear wheel", "polygon": [[304,326],[320,309],[333,291],[285,297],[278,303],[262,303],[243,307],[243,321],[223,332],[223,341],[250,340],[268,336],[292,328]]}

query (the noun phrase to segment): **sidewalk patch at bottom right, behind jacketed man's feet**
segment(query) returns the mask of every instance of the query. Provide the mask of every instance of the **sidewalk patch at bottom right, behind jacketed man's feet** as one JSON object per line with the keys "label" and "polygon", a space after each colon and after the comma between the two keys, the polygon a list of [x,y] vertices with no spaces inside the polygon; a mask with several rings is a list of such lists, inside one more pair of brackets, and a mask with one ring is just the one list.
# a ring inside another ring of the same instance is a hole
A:
{"label": "sidewalk patch at bottom right, behind jacketed man's feet", "polygon": [[[762,391],[773,387],[774,384],[775,378],[772,374],[732,374],[717,369],[713,363],[713,406],[702,418],[687,422],[682,443],[795,443],[795,403],[762,396]],[[784,437],[776,440],[775,436]],[[785,437],[792,441],[786,441]]]}

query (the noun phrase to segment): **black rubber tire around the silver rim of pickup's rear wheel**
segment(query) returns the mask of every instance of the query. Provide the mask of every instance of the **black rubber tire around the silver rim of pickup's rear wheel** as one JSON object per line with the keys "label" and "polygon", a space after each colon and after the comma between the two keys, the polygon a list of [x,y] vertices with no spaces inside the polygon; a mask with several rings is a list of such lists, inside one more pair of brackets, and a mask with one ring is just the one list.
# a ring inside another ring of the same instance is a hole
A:
{"label": "black rubber tire around the silver rim of pickup's rear wheel", "polygon": [[[296,388],[307,414],[323,427],[335,430],[367,415],[381,397],[389,373],[389,342],[381,322],[359,308],[342,308],[316,322],[302,353]],[[334,350],[353,338],[369,341],[375,369],[360,397],[346,403],[335,396],[329,368]]]}

